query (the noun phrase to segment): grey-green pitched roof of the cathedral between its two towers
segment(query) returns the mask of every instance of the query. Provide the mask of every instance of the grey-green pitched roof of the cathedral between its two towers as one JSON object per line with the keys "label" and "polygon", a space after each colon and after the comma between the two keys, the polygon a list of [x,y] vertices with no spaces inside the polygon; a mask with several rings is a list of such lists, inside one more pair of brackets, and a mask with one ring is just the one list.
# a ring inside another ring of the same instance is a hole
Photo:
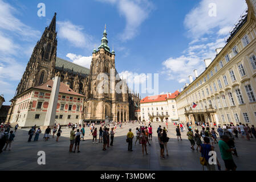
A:
{"label": "grey-green pitched roof of the cathedral between its two towers", "polygon": [[90,74],[90,69],[81,67],[80,65],[71,63],[70,61],[56,57],[55,69],[64,69],[67,72],[81,73],[83,76]]}

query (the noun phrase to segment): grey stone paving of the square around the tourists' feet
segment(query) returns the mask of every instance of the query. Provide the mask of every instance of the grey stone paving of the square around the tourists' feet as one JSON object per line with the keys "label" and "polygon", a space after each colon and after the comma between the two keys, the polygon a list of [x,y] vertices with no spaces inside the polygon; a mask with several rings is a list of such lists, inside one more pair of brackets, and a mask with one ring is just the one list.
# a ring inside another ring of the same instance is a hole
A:
{"label": "grey stone paving of the square around the tourists' feet", "polygon": [[[160,159],[160,147],[157,142],[156,130],[161,123],[153,123],[152,145],[147,146],[149,155],[142,155],[141,146],[133,146],[133,152],[127,151],[125,142],[129,128],[135,133],[135,123],[123,125],[122,129],[116,130],[114,146],[102,151],[102,143],[93,144],[92,136],[89,136],[89,128],[86,128],[86,141],[80,142],[80,153],[68,152],[70,140],[70,129],[64,129],[59,142],[50,139],[43,140],[40,134],[38,142],[27,142],[28,130],[18,130],[11,151],[3,151],[0,154],[0,170],[202,170],[199,162],[200,152],[192,151],[190,143],[186,137],[186,132],[182,133],[182,141],[177,141],[175,127],[169,125],[168,143],[169,157]],[[162,125],[163,127],[164,125]],[[97,126],[99,130],[99,126]],[[44,132],[43,132],[44,133]],[[33,137],[34,139],[34,137]],[[33,140],[32,139],[32,140]],[[135,140],[133,139],[133,143]],[[236,142],[238,158],[234,156],[234,161],[238,170],[256,170],[256,139],[246,141],[239,138]],[[225,169],[224,162],[220,156],[220,150],[216,146],[217,156],[222,169]],[[46,152],[46,165],[39,166],[37,163],[38,151]]]}

